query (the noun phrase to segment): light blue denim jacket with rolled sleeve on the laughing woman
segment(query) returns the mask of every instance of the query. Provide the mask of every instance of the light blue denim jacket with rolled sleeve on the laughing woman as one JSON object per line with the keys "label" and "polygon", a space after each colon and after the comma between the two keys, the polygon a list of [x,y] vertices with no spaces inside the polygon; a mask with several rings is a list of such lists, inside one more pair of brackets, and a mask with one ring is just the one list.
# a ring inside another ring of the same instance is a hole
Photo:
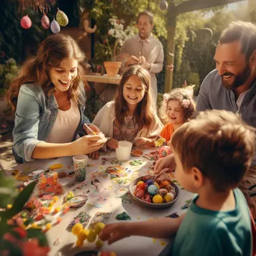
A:
{"label": "light blue denim jacket with rolled sleeve on the laughing woman", "polygon": [[[85,117],[85,89],[80,86],[79,112],[80,122],[73,137],[76,136],[83,124],[90,124]],[[37,143],[46,141],[58,115],[58,103],[53,94],[46,97],[40,86],[22,85],[15,113],[13,129],[13,155],[16,162],[29,162]]]}

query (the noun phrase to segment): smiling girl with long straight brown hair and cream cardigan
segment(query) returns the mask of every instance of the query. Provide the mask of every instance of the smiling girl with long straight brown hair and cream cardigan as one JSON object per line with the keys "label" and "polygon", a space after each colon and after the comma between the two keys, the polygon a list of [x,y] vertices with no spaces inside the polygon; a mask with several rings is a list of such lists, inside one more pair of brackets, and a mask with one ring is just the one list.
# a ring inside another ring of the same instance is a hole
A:
{"label": "smiling girl with long straight brown hair and cream cardigan", "polygon": [[118,147],[118,141],[130,141],[136,146],[152,143],[162,129],[162,123],[153,111],[150,74],[134,65],[122,76],[118,96],[106,103],[93,124],[109,137],[105,149]]}

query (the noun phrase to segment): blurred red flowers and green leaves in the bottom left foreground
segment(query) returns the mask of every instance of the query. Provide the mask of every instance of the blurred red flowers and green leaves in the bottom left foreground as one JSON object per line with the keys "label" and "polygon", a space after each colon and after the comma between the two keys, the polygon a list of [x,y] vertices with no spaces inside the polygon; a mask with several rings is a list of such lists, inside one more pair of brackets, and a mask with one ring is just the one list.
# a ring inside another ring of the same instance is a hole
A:
{"label": "blurred red flowers and green leaves in the bottom left foreground", "polygon": [[13,177],[5,177],[0,171],[0,255],[47,255],[49,246],[45,234],[31,228],[32,219],[22,219],[20,213],[36,182],[30,183],[18,195],[15,183]]}

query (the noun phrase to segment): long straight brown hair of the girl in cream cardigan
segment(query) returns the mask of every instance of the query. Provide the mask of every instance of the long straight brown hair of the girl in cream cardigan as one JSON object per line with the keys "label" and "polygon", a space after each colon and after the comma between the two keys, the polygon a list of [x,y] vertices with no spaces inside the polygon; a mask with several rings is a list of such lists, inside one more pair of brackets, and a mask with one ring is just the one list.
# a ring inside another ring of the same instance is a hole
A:
{"label": "long straight brown hair of the girl in cream cardigan", "polygon": [[151,108],[151,88],[150,88],[150,74],[143,67],[135,65],[127,70],[120,82],[118,96],[115,99],[115,120],[118,124],[124,124],[124,118],[129,111],[127,101],[124,99],[124,85],[131,76],[138,76],[142,84],[145,86],[144,97],[138,103],[135,109],[134,118],[135,123],[138,124],[138,129],[150,127],[152,122],[155,122],[153,109]]}

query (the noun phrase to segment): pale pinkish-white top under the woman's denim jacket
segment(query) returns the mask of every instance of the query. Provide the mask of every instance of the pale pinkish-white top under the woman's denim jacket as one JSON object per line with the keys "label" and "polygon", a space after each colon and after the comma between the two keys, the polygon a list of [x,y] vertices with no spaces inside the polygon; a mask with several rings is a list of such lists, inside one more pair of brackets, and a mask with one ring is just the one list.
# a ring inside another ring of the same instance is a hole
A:
{"label": "pale pinkish-white top under the woman's denim jacket", "polygon": [[73,100],[70,100],[70,103],[70,109],[67,111],[58,109],[55,124],[53,125],[46,142],[67,143],[73,141],[73,136],[79,126],[80,112]]}

